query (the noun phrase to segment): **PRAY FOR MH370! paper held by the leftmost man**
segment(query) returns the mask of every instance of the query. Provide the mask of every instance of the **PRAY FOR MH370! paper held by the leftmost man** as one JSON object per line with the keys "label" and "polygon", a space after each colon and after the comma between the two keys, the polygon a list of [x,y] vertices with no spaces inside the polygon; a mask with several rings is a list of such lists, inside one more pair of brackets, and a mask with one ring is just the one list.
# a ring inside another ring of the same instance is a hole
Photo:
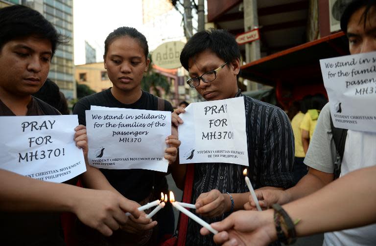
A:
{"label": "PRAY FOR MH370! paper held by the leftmost man", "polygon": [[0,118],[1,169],[52,182],[86,171],[82,150],[73,139],[77,115]]}

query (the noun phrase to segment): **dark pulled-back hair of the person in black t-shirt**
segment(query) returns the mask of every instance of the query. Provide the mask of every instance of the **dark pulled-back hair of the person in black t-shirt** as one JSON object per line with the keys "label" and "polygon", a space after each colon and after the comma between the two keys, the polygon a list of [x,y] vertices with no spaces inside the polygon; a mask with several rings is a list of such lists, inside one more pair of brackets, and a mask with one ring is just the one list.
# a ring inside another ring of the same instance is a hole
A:
{"label": "dark pulled-back hair of the person in black t-shirt", "polygon": [[129,27],[129,26],[121,26],[118,29],[115,29],[112,33],[110,33],[106,40],[104,41],[104,55],[103,59],[106,58],[108,46],[111,45],[111,43],[122,37],[131,37],[139,42],[141,45],[141,48],[143,49],[143,53],[145,55],[145,59],[147,59],[149,55],[149,46],[147,45],[147,40],[145,36],[141,32],[139,32],[136,28]]}

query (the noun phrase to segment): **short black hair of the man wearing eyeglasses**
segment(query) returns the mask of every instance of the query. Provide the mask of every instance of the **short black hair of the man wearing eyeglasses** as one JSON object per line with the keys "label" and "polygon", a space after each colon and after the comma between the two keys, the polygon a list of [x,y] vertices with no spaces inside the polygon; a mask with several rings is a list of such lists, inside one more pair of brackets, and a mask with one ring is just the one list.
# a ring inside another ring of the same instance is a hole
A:
{"label": "short black hair of the man wearing eyeglasses", "polygon": [[197,32],[188,40],[180,54],[180,63],[188,71],[189,59],[207,49],[227,63],[240,59],[235,37],[226,30],[210,28]]}

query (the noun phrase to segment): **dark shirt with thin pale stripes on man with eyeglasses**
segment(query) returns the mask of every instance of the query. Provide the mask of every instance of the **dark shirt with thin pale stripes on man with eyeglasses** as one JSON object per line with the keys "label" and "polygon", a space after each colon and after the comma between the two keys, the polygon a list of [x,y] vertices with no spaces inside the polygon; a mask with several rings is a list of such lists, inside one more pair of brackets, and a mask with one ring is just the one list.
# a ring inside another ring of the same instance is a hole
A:
{"label": "dark shirt with thin pale stripes on man with eyeglasses", "polygon": [[[237,93],[236,96],[244,96]],[[287,115],[278,107],[244,96],[248,143],[248,177],[254,189],[264,186],[289,188],[294,185],[294,134]],[[201,193],[217,189],[222,193],[244,193],[245,166],[228,163],[197,163],[194,166],[192,203]],[[211,224],[229,215],[208,219]],[[215,246],[212,235],[202,236],[201,226],[189,219],[187,246]]]}

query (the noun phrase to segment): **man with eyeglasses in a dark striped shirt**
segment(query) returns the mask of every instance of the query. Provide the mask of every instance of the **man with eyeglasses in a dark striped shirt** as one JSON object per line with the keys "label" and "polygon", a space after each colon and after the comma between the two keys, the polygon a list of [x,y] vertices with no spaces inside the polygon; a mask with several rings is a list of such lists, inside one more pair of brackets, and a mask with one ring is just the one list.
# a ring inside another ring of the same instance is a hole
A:
{"label": "man with eyeglasses in a dark striped shirt", "polygon": [[[242,95],[237,87],[240,51],[235,38],[224,30],[206,30],[193,35],[184,46],[180,62],[188,70],[187,81],[206,100],[244,97],[248,142],[249,178],[255,189],[286,189],[294,184],[294,136],[287,115],[273,105]],[[173,123],[183,121],[173,113]],[[244,163],[246,164],[246,163]],[[195,164],[192,203],[208,223],[223,220],[243,209],[249,192],[243,177],[244,166],[229,163]],[[186,245],[215,245],[211,236],[201,236],[201,226],[188,223]]]}

